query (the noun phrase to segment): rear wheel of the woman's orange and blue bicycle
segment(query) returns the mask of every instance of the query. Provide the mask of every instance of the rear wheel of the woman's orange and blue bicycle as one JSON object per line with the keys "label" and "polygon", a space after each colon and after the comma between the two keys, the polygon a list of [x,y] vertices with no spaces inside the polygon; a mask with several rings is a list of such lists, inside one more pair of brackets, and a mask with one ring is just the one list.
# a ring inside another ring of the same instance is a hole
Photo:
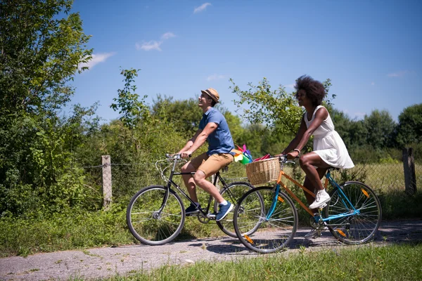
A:
{"label": "rear wheel of the woman's orange and blue bicycle", "polygon": [[[381,223],[381,202],[369,186],[349,181],[340,187],[359,214],[343,216],[327,221],[331,234],[345,244],[362,244],[369,241]],[[335,190],[325,209],[326,217],[350,214],[353,209],[345,204],[344,196]]]}

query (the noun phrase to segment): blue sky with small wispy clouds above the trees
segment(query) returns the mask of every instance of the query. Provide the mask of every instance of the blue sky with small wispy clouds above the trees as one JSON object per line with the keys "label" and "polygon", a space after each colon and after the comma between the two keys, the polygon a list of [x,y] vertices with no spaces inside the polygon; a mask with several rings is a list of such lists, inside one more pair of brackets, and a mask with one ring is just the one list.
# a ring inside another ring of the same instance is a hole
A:
{"label": "blue sky with small wispy clouds above the trees", "polygon": [[72,103],[98,102],[105,122],[119,117],[110,105],[131,68],[149,105],[212,87],[236,114],[229,79],[248,90],[267,77],[293,92],[303,74],[331,79],[334,107],[351,119],[388,110],[397,122],[422,103],[422,1],[75,0],[72,12],[94,49]]}

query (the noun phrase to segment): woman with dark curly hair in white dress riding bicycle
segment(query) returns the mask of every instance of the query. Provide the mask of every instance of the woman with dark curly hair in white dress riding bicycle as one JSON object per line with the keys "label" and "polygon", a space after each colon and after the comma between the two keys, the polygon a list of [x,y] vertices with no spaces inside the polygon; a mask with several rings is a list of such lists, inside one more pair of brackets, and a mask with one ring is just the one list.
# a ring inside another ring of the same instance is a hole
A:
{"label": "woman with dark curly hair in white dress riding bicycle", "polygon": [[305,192],[309,209],[318,209],[330,201],[330,195],[321,183],[321,178],[327,169],[331,166],[350,169],[354,164],[345,143],[334,130],[328,111],[321,105],[326,95],[323,84],[303,75],[296,81],[295,89],[299,105],[305,107],[306,112],[302,117],[298,133],[281,154],[287,154],[288,159],[298,157],[310,136],[314,136],[314,151],[300,156],[300,167],[306,174],[303,183],[305,188],[312,192],[316,190],[315,200]]}

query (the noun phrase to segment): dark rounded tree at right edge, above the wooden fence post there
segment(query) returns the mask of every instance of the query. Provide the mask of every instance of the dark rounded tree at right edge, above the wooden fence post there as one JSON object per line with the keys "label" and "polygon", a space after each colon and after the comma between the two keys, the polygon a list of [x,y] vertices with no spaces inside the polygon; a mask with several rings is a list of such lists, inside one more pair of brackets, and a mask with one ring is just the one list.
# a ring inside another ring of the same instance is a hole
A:
{"label": "dark rounded tree at right edge, above the wooden fence post there", "polygon": [[406,107],[400,113],[396,141],[401,147],[422,142],[422,103]]}

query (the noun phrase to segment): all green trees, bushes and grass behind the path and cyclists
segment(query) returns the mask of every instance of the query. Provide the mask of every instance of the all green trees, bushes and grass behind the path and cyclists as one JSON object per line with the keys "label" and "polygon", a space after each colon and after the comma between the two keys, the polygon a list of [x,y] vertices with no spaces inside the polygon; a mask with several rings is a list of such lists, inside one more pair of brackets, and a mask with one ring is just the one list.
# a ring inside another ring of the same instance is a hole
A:
{"label": "all green trees, bushes and grass behind the path and cyclists", "polygon": [[[198,128],[202,112],[196,98],[158,95],[148,104],[136,93],[141,71],[116,70],[122,89],[116,89],[110,107],[119,118],[108,122],[96,115],[97,104],[70,103],[72,79],[87,69],[83,65],[94,51],[87,47],[79,13],[72,13],[72,1],[1,1],[0,26],[0,256],[136,243],[125,208],[137,190],[162,183],[155,161],[179,150]],[[302,116],[294,93],[283,86],[272,89],[265,78],[249,84],[248,91],[231,82],[239,110],[234,114],[224,107],[231,100],[219,110],[235,143],[246,143],[253,157],[281,152]],[[369,183],[381,198],[383,218],[420,218],[421,192],[404,193],[401,157],[403,148],[414,148],[420,178],[422,104],[404,108],[399,122],[385,110],[354,120],[335,109],[330,79],[324,86],[329,93],[324,105],[356,164],[338,174],[338,181]],[[65,108],[71,110],[63,115]],[[311,148],[312,141],[304,150]],[[112,161],[108,211],[101,155]],[[303,177],[298,166],[291,174]],[[245,166],[231,164],[224,177],[245,177]],[[307,214],[300,218],[308,220]],[[217,235],[215,224],[193,218],[179,238]]]}

